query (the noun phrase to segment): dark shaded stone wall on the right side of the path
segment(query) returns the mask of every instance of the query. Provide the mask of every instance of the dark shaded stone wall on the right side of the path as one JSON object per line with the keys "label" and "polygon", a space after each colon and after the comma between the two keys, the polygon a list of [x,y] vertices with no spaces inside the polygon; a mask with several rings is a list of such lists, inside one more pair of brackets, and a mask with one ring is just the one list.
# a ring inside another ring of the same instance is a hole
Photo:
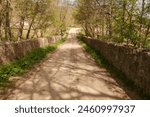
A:
{"label": "dark shaded stone wall on the right side of the path", "polygon": [[124,72],[145,94],[150,95],[150,52],[90,38],[83,40]]}

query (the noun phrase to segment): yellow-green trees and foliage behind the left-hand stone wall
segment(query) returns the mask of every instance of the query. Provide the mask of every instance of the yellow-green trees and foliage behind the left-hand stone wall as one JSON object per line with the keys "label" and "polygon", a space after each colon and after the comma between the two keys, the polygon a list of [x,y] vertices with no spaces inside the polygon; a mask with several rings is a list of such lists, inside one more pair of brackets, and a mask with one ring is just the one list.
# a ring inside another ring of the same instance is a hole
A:
{"label": "yellow-green trees and foliage behind the left-hand stone wall", "polygon": [[0,0],[0,41],[64,35],[74,7],[60,1]]}

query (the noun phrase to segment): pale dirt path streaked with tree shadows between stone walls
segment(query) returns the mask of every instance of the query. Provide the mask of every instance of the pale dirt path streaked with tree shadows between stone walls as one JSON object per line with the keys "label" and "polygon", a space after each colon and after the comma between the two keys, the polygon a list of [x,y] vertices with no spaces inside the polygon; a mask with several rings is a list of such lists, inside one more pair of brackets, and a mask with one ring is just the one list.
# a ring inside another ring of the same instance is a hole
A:
{"label": "pale dirt path streaked with tree shadows between stone walls", "polygon": [[131,99],[73,38],[17,79],[0,99]]}

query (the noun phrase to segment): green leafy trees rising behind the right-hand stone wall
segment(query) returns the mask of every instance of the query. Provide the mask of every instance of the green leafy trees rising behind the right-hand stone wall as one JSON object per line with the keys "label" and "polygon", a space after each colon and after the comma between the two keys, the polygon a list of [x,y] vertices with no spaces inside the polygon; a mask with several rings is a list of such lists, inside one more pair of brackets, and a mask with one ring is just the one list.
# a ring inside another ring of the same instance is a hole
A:
{"label": "green leafy trees rising behind the right-hand stone wall", "polygon": [[93,38],[145,47],[150,38],[149,0],[78,0],[75,19]]}

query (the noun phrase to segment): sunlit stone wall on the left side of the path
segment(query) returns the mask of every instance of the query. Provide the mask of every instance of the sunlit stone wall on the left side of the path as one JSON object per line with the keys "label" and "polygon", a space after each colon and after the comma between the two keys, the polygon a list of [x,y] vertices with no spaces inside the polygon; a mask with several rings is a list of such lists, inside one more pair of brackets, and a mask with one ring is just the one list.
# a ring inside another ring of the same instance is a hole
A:
{"label": "sunlit stone wall on the left side of the path", "polygon": [[39,38],[19,42],[0,43],[0,64],[13,61],[24,56],[33,49],[47,46],[50,43],[54,43],[60,39],[60,36],[56,36],[51,38]]}

